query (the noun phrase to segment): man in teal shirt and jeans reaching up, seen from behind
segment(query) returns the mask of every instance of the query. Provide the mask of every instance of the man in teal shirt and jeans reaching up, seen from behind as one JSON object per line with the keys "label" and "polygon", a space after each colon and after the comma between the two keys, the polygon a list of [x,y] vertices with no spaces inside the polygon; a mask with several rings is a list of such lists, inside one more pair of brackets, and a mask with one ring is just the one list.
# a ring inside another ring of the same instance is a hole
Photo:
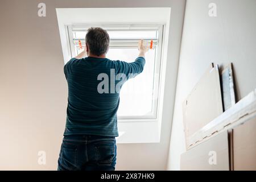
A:
{"label": "man in teal shirt and jeans reaching up, seen from behind", "polygon": [[[119,105],[115,85],[143,71],[148,48],[141,40],[137,59],[126,63],[106,58],[109,35],[102,28],[89,28],[85,43],[84,51],[64,66],[68,107],[58,170],[114,170]],[[113,86],[108,80],[113,73],[114,78],[118,74],[126,78],[114,80]]]}

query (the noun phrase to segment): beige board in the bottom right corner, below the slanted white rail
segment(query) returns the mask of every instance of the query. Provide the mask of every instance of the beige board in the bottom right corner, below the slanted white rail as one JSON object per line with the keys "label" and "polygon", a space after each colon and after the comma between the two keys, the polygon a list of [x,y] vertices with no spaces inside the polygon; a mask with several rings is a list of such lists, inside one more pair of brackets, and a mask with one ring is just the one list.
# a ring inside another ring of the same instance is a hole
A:
{"label": "beige board in the bottom right corner, below the slanted white rail", "polygon": [[256,117],[233,129],[234,170],[256,171]]}

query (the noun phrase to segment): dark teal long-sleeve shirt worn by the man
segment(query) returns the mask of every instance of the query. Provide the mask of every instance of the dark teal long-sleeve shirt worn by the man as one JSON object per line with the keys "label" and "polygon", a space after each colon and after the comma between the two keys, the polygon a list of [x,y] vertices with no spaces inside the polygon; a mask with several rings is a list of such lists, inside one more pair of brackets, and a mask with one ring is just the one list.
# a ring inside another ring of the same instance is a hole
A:
{"label": "dark teal long-sleeve shirt worn by the man", "polygon": [[121,88],[126,80],[134,77],[131,74],[141,73],[144,64],[144,57],[137,57],[133,63],[97,57],[69,60],[64,66],[68,82],[64,135],[118,137],[119,92],[116,86]]}

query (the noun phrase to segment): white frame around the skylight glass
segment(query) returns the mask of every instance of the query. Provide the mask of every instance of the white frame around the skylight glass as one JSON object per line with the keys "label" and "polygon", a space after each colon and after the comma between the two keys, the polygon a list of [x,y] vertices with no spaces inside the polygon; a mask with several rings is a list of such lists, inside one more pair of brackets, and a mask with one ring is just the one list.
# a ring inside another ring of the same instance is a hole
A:
{"label": "white frame around the skylight glass", "polygon": [[[160,67],[162,62],[162,44],[164,24],[69,24],[66,25],[68,48],[70,57],[75,57],[75,46],[73,39],[73,30],[86,31],[90,27],[102,27],[105,30],[157,30],[158,39],[144,39],[146,41],[153,40],[153,47],[156,49],[155,66],[154,66],[154,82],[152,96],[152,114],[151,115],[129,115],[118,116],[118,122],[139,122],[139,121],[158,121],[159,113],[159,89],[160,89]],[[78,39],[77,39],[78,40]],[[137,48],[139,39],[110,39],[110,48]],[[85,40],[81,39],[81,43],[85,44]]]}

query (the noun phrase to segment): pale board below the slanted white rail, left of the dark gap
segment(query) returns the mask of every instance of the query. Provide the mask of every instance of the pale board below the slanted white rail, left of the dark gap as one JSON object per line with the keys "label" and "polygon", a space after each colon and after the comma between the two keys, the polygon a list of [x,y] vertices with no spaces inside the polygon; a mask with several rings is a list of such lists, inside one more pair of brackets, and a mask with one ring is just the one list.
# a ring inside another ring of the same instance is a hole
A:
{"label": "pale board below the slanted white rail, left of the dark gap", "polygon": [[[215,158],[216,157],[216,158]],[[212,159],[216,159],[213,163]],[[229,170],[228,131],[181,154],[181,170]]]}

